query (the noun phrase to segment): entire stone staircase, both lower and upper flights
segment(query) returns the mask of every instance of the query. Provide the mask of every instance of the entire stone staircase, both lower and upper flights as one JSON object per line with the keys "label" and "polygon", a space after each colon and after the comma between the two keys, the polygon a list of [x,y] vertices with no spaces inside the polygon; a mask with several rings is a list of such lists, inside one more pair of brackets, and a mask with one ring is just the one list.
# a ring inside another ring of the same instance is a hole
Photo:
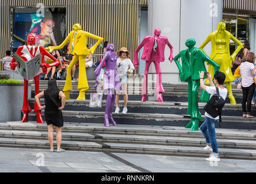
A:
{"label": "entire stone staircase, both lower and upper flights", "polygon": [[[128,113],[113,113],[118,125],[110,128],[103,126],[106,95],[102,108],[89,108],[90,93],[96,92],[94,81],[88,82],[90,89],[86,93],[86,101],[75,100],[78,95],[77,81],[72,83],[71,99],[66,101],[62,110],[65,121],[62,148],[65,150],[209,157],[210,151],[203,150],[206,143],[202,132],[184,128],[190,121],[190,116],[186,114],[186,83],[163,83],[166,91],[163,103],[140,102],[141,84],[136,83],[132,86],[133,94],[129,94]],[[60,89],[64,84],[65,81],[58,81]],[[235,89],[235,85],[233,88],[239,102],[242,91]],[[47,81],[40,81],[40,91],[44,89],[47,89]],[[149,93],[153,94],[153,90],[149,89]],[[29,104],[34,108],[34,83],[31,96]],[[152,100],[154,97],[148,98]],[[120,99],[122,107],[122,95]],[[43,99],[41,102],[44,104]],[[201,114],[204,114],[203,106],[205,103],[199,102]],[[253,113],[255,110],[256,107],[252,106]],[[227,102],[224,106],[221,127],[216,125],[218,151],[221,158],[256,160],[256,118],[243,118],[241,113],[241,104],[230,105]],[[35,115],[34,112],[29,113],[27,123],[0,122],[0,146],[49,149],[47,125],[36,123]]]}

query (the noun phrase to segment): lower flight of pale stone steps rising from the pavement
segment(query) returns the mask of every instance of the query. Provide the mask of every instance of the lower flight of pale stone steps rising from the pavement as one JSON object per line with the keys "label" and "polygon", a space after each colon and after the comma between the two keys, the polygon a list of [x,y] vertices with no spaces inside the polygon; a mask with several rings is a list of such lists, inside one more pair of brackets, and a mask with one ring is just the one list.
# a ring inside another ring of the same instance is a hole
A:
{"label": "lower flight of pale stone steps rising from the pavement", "polygon": [[[256,131],[217,129],[216,135],[221,158],[256,160]],[[0,146],[49,149],[47,125],[2,122]],[[65,150],[208,157],[210,151],[204,151],[203,147],[202,133],[183,127],[118,125],[105,128],[102,124],[73,122],[65,123],[62,129]]]}

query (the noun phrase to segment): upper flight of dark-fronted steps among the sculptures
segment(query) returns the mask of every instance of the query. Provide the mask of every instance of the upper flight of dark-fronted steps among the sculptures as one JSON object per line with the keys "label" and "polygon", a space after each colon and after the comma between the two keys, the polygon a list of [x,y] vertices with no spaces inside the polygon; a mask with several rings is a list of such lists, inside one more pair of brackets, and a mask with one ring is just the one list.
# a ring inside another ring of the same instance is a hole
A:
{"label": "upper flight of dark-fronted steps among the sculptures", "polygon": [[[136,81],[137,82],[137,81]],[[63,89],[65,81],[58,81],[60,89]],[[90,93],[96,93],[94,89],[94,81],[88,82],[90,89],[86,93],[86,101],[76,101],[79,91],[77,88],[77,81],[72,81],[73,90],[71,91],[71,98],[66,101],[64,110],[65,122],[90,122],[99,123],[103,122],[103,114],[105,112],[106,95],[103,95],[102,108],[89,108]],[[158,126],[179,126],[185,127],[190,121],[190,116],[187,112],[187,83],[163,83],[165,93],[164,102],[158,103],[156,101],[141,102],[141,83],[129,84],[128,90],[128,113],[127,114],[114,114],[113,117],[118,124],[130,124],[130,125],[158,125]],[[153,86],[152,81],[149,82],[149,86]],[[47,89],[47,81],[40,81],[40,91]],[[131,92],[132,91],[132,92]],[[154,90],[149,89],[149,93],[153,94]],[[201,91],[200,91],[201,92]],[[34,85],[32,84],[32,97],[34,97]],[[132,93],[132,94],[131,94]],[[137,94],[136,94],[137,93]],[[237,101],[242,101],[242,91],[235,88],[233,85],[233,94],[236,96]],[[154,98],[154,97],[148,97]],[[123,96],[120,95],[120,99]],[[166,101],[165,101],[166,99]],[[42,99],[43,102],[43,99]],[[34,98],[29,99],[31,108],[34,107]],[[123,100],[120,101],[120,106],[123,106]],[[199,102],[199,110],[203,115],[205,112],[203,107],[204,102]],[[252,106],[252,114],[256,116],[256,106]],[[42,113],[43,114],[43,113]],[[202,116],[203,119],[205,118]],[[30,121],[35,121],[35,113],[30,113]],[[202,121],[203,122],[203,121]],[[202,124],[201,122],[201,124]],[[256,129],[256,119],[243,118],[242,117],[242,105],[231,105],[227,98],[227,104],[225,104],[222,110],[222,122],[221,128],[236,128],[236,129]]]}

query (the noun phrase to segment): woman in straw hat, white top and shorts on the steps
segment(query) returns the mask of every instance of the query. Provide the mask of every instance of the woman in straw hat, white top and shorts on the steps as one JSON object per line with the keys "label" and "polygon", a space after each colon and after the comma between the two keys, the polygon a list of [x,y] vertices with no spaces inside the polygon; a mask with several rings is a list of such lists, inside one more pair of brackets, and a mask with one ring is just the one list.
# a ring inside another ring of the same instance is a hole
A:
{"label": "woman in straw hat, white top and shorts on the steps", "polygon": [[[131,60],[127,57],[129,57],[130,52],[127,50],[127,48],[123,47],[119,51],[117,51],[117,57],[120,57],[117,59],[117,66],[116,66],[116,72],[120,79],[121,85],[122,85],[122,91],[124,94],[124,109],[123,114],[127,113],[127,101],[128,101],[128,94],[127,94],[127,84],[128,84],[128,78],[127,73],[132,72],[135,68],[131,62]],[[129,70],[128,70],[129,69]],[[120,111],[119,108],[119,93],[116,95],[116,111],[114,113],[118,114]]]}

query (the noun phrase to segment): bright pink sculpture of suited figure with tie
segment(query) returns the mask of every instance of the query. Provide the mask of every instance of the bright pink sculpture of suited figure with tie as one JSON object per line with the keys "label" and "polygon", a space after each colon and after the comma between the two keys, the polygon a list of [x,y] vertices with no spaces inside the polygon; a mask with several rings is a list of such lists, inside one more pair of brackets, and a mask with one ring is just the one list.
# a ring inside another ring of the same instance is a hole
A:
{"label": "bright pink sculpture of suited figure with tie", "polygon": [[170,56],[169,60],[172,62],[173,60],[173,47],[169,43],[167,37],[160,36],[161,30],[156,28],[154,31],[153,36],[146,36],[140,43],[139,47],[134,52],[134,59],[133,65],[135,68],[138,68],[138,53],[140,49],[144,46],[142,60],[146,61],[146,67],[144,72],[143,78],[143,85],[142,85],[142,102],[146,101],[147,99],[147,75],[149,74],[149,66],[152,62],[155,64],[155,71],[157,72],[157,102],[163,102],[162,93],[164,91],[164,87],[162,87],[162,72],[160,68],[160,62],[164,62],[164,52],[165,52],[165,45],[167,44],[170,48]]}

